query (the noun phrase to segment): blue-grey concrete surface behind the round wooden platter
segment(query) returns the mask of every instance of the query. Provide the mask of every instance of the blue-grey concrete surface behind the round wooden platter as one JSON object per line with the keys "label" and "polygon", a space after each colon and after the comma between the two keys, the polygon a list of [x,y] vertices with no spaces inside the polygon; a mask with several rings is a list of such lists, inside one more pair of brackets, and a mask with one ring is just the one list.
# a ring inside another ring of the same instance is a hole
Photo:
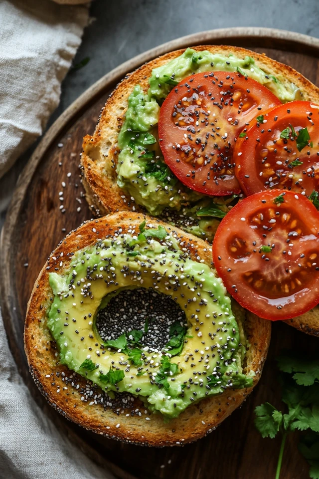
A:
{"label": "blue-grey concrete surface behind the round wooden platter", "polygon": [[[234,26],[263,26],[319,37],[319,0],[93,0],[74,64],[62,84],[61,101],[48,127],[81,93],[122,62],[189,33]],[[35,145],[34,145],[35,147]],[[5,198],[0,226],[18,174],[34,147],[0,180]]]}

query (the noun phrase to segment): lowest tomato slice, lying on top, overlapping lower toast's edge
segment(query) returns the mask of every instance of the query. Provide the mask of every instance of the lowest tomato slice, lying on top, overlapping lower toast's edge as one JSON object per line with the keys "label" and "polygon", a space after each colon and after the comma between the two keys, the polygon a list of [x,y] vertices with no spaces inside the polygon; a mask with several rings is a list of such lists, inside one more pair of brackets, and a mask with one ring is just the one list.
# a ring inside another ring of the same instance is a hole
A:
{"label": "lowest tomato slice, lying on top, overlapping lower toast's edge", "polygon": [[221,221],[213,260],[249,311],[273,321],[296,317],[319,303],[319,212],[290,191],[245,198]]}

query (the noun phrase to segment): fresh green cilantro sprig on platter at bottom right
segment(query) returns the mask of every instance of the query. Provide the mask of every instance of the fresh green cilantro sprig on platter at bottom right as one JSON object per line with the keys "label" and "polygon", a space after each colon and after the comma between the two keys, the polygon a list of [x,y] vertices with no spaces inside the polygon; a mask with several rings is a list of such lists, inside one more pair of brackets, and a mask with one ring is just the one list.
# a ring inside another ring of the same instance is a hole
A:
{"label": "fresh green cilantro sprig on platter at bottom right", "polygon": [[255,409],[255,426],[263,438],[282,436],[276,479],[280,478],[287,435],[295,430],[310,431],[299,450],[310,464],[310,477],[319,479],[319,360],[285,354],[278,358],[278,367],[288,412],[266,402]]}

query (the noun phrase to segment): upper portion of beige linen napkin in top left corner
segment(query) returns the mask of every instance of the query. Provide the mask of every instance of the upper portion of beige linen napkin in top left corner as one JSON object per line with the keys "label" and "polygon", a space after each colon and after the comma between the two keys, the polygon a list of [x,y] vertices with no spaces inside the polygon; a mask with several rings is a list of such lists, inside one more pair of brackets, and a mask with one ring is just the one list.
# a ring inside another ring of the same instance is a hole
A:
{"label": "upper portion of beige linen napkin in top left corner", "polygon": [[87,21],[85,5],[0,1],[0,177],[42,134]]}

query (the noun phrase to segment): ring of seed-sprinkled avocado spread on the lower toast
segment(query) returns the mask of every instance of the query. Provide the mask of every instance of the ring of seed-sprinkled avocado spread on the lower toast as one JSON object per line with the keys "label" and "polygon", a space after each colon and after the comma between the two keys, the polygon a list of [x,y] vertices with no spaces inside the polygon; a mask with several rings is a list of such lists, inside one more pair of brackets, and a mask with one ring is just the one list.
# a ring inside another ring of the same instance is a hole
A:
{"label": "ring of seed-sprinkled avocado spread on the lower toast", "polygon": [[[243,311],[238,307],[237,322],[221,279],[199,257],[192,260],[185,246],[162,227],[145,229],[144,222],[138,236],[133,229],[98,240],[76,251],[67,270],[49,274],[54,298],[47,326],[61,363],[107,393],[138,396],[167,418],[203,397],[249,387],[254,376],[242,370]],[[143,331],[112,339],[110,330],[105,341],[97,329],[97,314],[110,298],[142,285],[169,296],[185,313],[161,350],[143,346]]]}

